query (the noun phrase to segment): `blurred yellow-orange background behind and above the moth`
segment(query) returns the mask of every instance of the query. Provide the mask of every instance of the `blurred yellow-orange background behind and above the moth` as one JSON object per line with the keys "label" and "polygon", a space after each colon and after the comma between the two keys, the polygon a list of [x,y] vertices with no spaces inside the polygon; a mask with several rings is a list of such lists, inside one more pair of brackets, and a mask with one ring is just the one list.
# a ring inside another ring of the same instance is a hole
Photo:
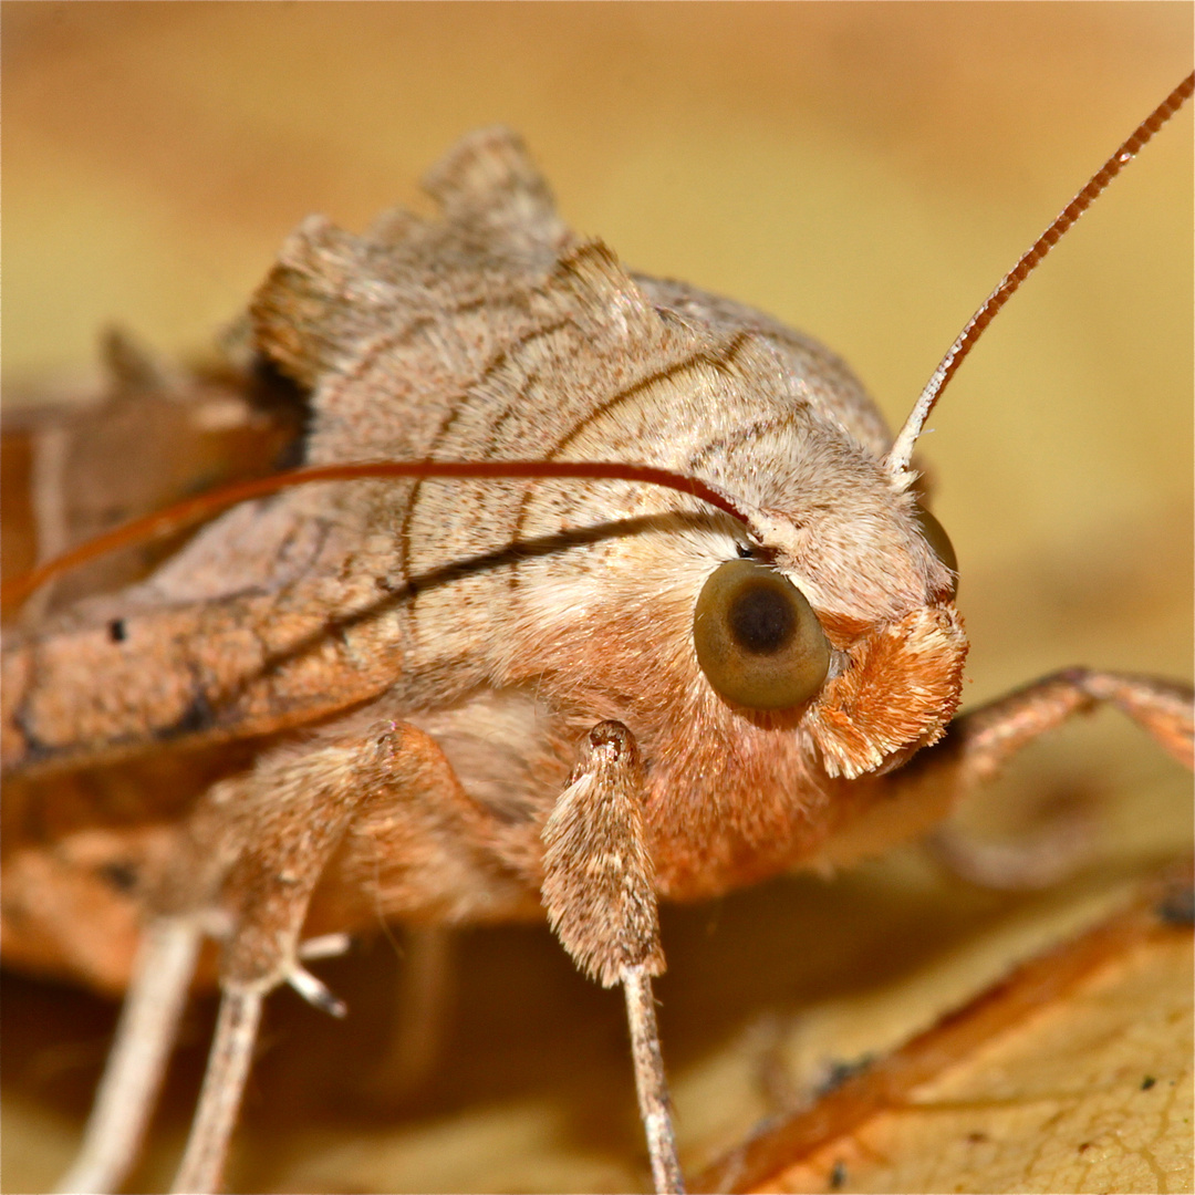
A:
{"label": "blurred yellow-orange background behind and above the moth", "polygon": [[[304,215],[360,229],[422,202],[458,135],[504,122],[574,227],[826,341],[894,423],[1193,44],[1189,5],[1150,2],[6,2],[0,18],[8,393],[85,374],[114,321],[204,347]],[[1013,299],[924,441],[962,564],[970,701],[1078,662],[1190,673],[1191,142],[1188,111]],[[1116,777],[1117,851],[1181,842],[1187,782],[1110,716],[1097,727],[1042,766]],[[838,899],[865,909],[852,891]],[[703,943],[684,946],[704,923],[686,924],[673,983],[686,963],[711,978]],[[721,940],[715,958],[768,957]],[[619,1076],[617,1019],[600,1024]],[[719,1034],[694,1028],[676,1056]],[[581,1162],[495,1182],[642,1182],[619,1169],[629,1109],[618,1145],[582,1133]],[[53,1101],[32,1115],[66,1140]],[[19,1169],[13,1140],[5,1188],[33,1189],[53,1150]],[[419,1164],[396,1172],[430,1189]]]}

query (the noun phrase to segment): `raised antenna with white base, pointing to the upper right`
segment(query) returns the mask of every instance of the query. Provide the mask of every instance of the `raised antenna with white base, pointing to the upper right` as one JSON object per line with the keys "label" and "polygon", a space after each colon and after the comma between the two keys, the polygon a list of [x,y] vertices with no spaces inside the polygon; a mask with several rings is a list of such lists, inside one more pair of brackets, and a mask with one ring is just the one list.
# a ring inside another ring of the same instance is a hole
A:
{"label": "raised antenna with white base, pointing to the upper right", "polygon": [[942,358],[925,390],[913,404],[905,425],[900,429],[884,464],[893,474],[903,473],[913,455],[913,445],[925,427],[934,404],[942,397],[946,384],[962,364],[963,358],[975,347],[983,329],[995,318],[995,313],[1009,301],[1013,292],[1034,271],[1037,263],[1061,240],[1066,231],[1095,202],[1099,192],[1136,157],[1142,146],[1170,120],[1195,91],[1195,72],[1189,74],[1134,130],[1133,135],[1091,176],[1086,186],[1055,216],[1049,227],[1022,255],[1021,261],[1000,280],[1000,284],[983,300],[983,305],[967,321],[950,351]]}

